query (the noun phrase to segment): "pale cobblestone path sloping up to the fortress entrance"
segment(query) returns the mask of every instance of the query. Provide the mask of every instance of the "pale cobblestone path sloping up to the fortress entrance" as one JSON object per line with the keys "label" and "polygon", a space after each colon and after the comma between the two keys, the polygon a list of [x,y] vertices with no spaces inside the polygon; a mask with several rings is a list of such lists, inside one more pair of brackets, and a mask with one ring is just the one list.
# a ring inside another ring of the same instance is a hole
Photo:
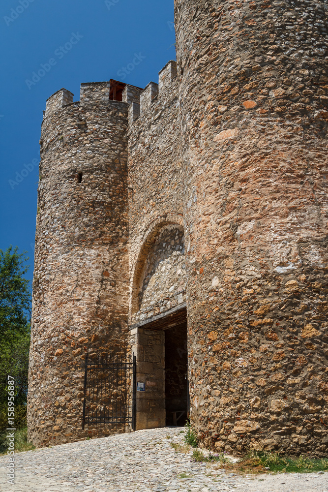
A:
{"label": "pale cobblestone path sloping up to the fortress entrance", "polygon": [[328,473],[225,473],[176,452],[170,442],[182,440],[181,429],[164,428],[18,453],[14,486],[6,483],[8,460],[1,456],[0,491],[328,492]]}

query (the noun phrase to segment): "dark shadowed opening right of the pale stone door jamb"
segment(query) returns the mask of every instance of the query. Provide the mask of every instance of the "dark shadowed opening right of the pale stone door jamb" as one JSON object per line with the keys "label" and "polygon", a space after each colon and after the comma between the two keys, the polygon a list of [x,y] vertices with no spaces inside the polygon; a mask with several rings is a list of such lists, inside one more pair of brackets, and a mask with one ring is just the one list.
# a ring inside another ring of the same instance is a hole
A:
{"label": "dark shadowed opening right of the pale stone door jamb", "polygon": [[188,411],[187,322],[165,330],[165,410],[167,426],[183,426]]}

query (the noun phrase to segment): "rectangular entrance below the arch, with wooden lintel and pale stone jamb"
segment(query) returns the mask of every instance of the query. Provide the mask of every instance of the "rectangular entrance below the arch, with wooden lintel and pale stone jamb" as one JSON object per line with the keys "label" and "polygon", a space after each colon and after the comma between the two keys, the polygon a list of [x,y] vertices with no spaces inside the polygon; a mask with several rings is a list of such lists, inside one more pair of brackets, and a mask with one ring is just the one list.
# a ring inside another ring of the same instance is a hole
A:
{"label": "rectangular entrance below the arch, with wooden lintel and pale stone jamb", "polygon": [[130,328],[137,357],[136,430],[183,426],[188,414],[185,304]]}

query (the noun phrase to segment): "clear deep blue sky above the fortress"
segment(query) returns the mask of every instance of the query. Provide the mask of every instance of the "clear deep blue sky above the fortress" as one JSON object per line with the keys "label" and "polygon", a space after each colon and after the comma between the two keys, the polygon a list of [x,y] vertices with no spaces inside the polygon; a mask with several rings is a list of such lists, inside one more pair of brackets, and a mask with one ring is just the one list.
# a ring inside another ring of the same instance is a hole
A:
{"label": "clear deep blue sky above the fortress", "polygon": [[[176,58],[173,20],[173,0],[2,0],[0,249],[28,251],[28,278],[46,99],[64,87],[79,100],[82,82],[158,82]],[[135,54],[141,62],[132,66]]]}

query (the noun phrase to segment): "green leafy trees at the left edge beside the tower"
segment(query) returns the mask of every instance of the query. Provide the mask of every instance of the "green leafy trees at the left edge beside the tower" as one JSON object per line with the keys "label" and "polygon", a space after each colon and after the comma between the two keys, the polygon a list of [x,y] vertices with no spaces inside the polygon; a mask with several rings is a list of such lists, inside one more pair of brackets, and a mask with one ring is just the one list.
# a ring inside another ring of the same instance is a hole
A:
{"label": "green leafy trees at the left edge beside the tower", "polygon": [[15,426],[26,425],[30,348],[30,286],[26,253],[0,249],[0,430],[6,427],[7,376],[15,378]]}

